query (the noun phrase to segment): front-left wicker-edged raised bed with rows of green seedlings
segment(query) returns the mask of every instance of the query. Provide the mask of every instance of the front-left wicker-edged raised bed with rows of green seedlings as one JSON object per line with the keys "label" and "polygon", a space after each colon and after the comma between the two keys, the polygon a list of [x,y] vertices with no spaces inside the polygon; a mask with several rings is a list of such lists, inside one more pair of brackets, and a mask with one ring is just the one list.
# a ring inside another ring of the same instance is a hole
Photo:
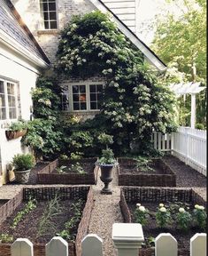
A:
{"label": "front-left wicker-edged raised bed with rows of green seedlings", "polygon": [[[16,196],[16,201],[17,199],[19,204],[13,207],[12,212],[6,212],[6,220],[0,222],[0,235],[8,234],[13,236],[13,240],[28,238],[34,244],[35,256],[44,256],[45,244],[49,243],[53,236],[58,236],[63,230],[67,230],[65,223],[75,219],[73,217],[77,217],[80,213],[78,221],[74,220],[73,226],[70,224],[72,226],[69,229],[70,237],[63,238],[68,242],[69,256],[81,256],[81,239],[87,235],[94,202],[92,189],[89,186],[23,188]],[[28,202],[30,202],[30,206],[28,206]],[[36,206],[31,207],[31,204]],[[52,204],[53,211],[51,210]],[[77,215],[74,213],[77,212],[74,207],[77,209],[78,206]],[[15,221],[19,212],[24,212],[28,207],[30,211],[23,214],[21,220]],[[53,212],[51,218],[42,218],[42,216],[46,216],[44,211],[47,214]],[[0,208],[0,216],[1,213]],[[62,236],[64,236],[63,233]],[[11,244],[12,241],[0,244],[1,256],[11,256]]]}

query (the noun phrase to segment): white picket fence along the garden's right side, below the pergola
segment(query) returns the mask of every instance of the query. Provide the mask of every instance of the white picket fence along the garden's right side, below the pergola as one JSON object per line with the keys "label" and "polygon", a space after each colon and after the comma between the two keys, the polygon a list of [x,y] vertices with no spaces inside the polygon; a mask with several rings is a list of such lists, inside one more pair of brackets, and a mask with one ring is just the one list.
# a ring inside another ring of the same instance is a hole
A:
{"label": "white picket fence along the garden's right side, below the pergola", "polygon": [[179,127],[171,134],[153,132],[152,142],[154,148],[172,152],[173,156],[206,176],[206,131]]}

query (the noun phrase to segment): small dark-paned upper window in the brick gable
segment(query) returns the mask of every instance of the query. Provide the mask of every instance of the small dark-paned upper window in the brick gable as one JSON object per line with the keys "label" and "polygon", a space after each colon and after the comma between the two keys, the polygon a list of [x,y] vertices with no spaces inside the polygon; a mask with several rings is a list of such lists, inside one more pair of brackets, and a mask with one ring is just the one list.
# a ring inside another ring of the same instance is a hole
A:
{"label": "small dark-paned upper window in the brick gable", "polygon": [[41,12],[44,29],[57,29],[56,0],[41,0]]}

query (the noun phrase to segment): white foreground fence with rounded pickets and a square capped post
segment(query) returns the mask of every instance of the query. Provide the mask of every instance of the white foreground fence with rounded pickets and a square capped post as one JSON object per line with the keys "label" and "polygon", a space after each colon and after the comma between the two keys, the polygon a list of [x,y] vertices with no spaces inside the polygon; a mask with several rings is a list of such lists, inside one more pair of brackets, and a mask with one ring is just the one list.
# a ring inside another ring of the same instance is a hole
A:
{"label": "white foreground fence with rounded pickets and a square capped post", "polygon": [[[119,232],[120,231],[120,232]],[[125,232],[126,231],[126,232]],[[125,235],[126,233],[126,235]],[[141,224],[114,223],[112,240],[118,256],[138,256],[143,243]],[[103,256],[103,240],[95,234],[85,236],[81,243],[82,256]],[[12,256],[34,256],[33,244],[28,239],[19,238],[11,248]],[[68,244],[58,236],[45,246],[46,256],[68,256]],[[170,233],[162,233],[155,239],[155,256],[177,256],[178,244]],[[190,239],[190,256],[206,256],[206,234],[197,233]]]}

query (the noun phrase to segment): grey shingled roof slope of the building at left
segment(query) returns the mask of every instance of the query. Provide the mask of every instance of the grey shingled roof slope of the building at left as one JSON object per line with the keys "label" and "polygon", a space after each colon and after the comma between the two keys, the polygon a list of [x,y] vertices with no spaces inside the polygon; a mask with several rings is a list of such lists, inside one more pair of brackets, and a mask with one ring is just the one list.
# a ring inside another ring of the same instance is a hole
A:
{"label": "grey shingled roof slope of the building at left", "polygon": [[50,64],[50,60],[24,24],[10,0],[0,0],[0,32],[0,38],[6,41],[7,44],[18,44],[21,49],[26,50],[25,54],[29,52],[35,59],[43,60],[46,65]]}

